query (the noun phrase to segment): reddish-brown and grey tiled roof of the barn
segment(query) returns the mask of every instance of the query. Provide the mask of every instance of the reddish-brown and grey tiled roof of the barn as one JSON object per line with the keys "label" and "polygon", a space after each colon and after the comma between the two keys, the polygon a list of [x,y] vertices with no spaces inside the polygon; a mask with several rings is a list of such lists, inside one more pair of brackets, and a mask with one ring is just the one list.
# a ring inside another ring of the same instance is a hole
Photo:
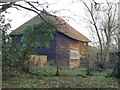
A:
{"label": "reddish-brown and grey tiled roof of the barn", "polygon": [[[42,14],[43,17],[46,16],[46,14]],[[57,25],[58,27],[58,32],[61,32],[65,35],[67,35],[70,38],[73,38],[75,40],[83,41],[83,42],[90,42],[90,40],[82,35],[80,32],[76,31],[73,27],[71,27],[68,23],[66,23],[62,18],[59,18],[57,16],[53,15],[47,15],[47,17],[51,18]],[[33,17],[31,20],[27,21],[20,27],[18,27],[16,30],[11,32],[11,35],[17,35],[17,34],[23,34],[24,29],[27,25],[31,24],[38,24],[41,22],[41,18],[37,15]]]}

